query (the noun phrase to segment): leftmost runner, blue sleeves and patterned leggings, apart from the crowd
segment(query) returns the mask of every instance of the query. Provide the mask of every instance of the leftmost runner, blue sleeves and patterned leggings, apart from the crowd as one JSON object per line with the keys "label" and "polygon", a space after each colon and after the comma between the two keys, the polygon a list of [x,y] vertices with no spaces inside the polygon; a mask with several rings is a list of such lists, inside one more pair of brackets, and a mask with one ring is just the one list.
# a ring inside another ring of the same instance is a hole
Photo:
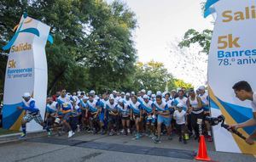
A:
{"label": "leftmost runner, blue sleeves and patterned leggings, apart from the crowd", "polygon": [[43,126],[43,128],[49,132],[49,128],[44,124],[42,116],[40,115],[36,101],[31,97],[29,92],[24,93],[21,106],[18,106],[17,109],[26,110],[26,115],[21,120],[21,138],[26,137],[26,123],[29,123],[31,120],[35,120],[39,125]]}

